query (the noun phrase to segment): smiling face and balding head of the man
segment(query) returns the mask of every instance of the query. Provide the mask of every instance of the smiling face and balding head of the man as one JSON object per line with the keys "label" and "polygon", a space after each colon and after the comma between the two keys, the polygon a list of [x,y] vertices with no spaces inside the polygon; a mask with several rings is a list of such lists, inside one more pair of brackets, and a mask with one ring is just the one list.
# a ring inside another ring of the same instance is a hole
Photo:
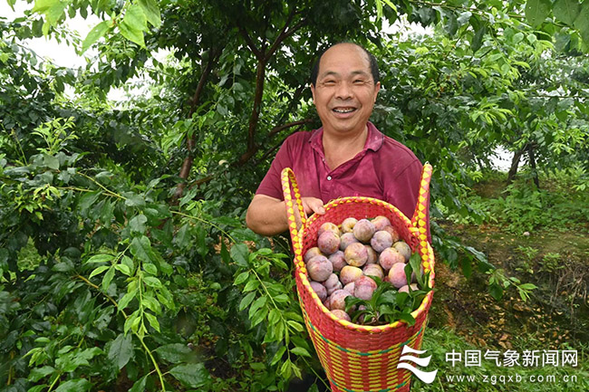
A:
{"label": "smiling face and balding head of the man", "polygon": [[352,43],[340,43],[321,57],[313,101],[323,123],[332,134],[361,133],[372,114],[381,83],[374,84],[368,55]]}

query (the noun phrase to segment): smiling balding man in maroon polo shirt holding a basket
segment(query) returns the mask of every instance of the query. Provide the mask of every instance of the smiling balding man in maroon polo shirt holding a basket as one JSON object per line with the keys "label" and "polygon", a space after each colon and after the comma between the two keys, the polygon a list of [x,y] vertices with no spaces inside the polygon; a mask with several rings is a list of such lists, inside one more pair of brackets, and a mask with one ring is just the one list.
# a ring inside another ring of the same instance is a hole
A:
{"label": "smiling balding man in maroon polo shirt holding a basket", "polygon": [[369,122],[380,89],[376,60],[361,46],[338,43],[323,53],[311,81],[323,127],[285,140],[247,209],[250,229],[286,231],[284,167],[294,171],[307,215],[324,214],[325,203],[343,196],[379,198],[413,215],[422,166],[409,148]]}

